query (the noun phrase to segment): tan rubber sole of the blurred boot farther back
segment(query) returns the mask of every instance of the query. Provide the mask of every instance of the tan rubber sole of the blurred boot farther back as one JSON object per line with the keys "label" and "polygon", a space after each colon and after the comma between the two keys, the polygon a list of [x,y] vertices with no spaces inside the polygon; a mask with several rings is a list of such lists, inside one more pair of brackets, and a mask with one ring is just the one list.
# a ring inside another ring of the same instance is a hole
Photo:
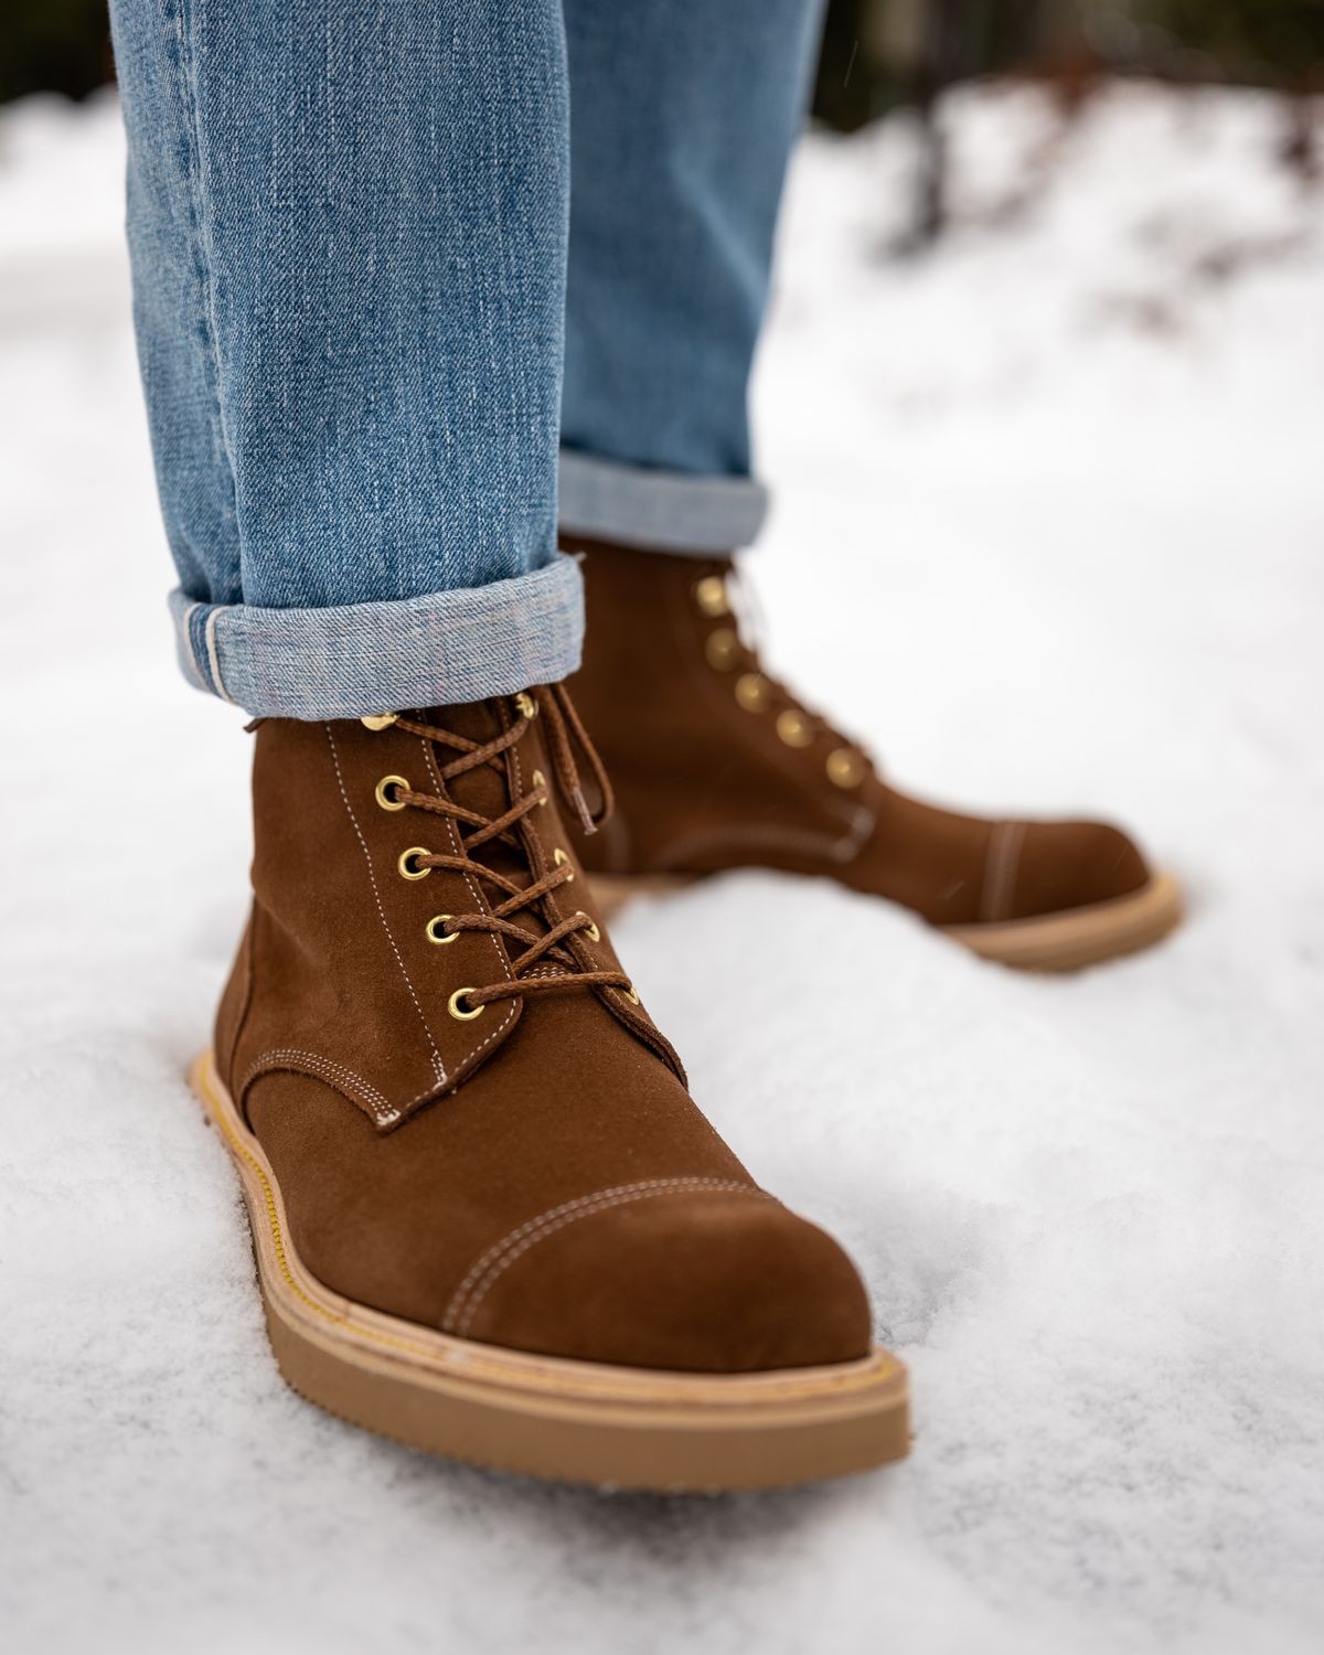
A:
{"label": "tan rubber sole of the blurred boot farther back", "polygon": [[[636,897],[674,895],[697,874],[592,874],[589,884],[604,919]],[[1081,909],[988,925],[940,925],[953,942],[983,960],[1023,971],[1076,971],[1162,942],[1182,922],[1182,890],[1172,874],[1154,874],[1139,890]]]}

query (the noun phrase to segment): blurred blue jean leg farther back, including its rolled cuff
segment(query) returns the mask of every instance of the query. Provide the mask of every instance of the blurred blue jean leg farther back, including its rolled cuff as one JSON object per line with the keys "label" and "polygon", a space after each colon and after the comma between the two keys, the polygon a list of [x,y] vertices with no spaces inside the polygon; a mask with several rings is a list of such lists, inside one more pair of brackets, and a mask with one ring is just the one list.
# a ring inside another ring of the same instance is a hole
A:
{"label": "blurred blue jean leg farther back, including its rolled cuff", "polygon": [[821,0],[566,0],[561,526],[725,551],[758,531],[746,387]]}

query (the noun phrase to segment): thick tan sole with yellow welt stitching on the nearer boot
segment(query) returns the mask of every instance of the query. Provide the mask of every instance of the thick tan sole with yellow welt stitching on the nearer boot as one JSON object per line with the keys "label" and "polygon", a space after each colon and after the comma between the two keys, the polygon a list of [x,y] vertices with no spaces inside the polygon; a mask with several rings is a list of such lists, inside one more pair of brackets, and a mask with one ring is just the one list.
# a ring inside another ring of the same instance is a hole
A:
{"label": "thick tan sole with yellow welt stitching on the nearer boot", "polygon": [[276,1364],[328,1412],[452,1460],[657,1493],[780,1488],[909,1451],[905,1369],[880,1349],[834,1367],[672,1374],[452,1339],[341,1298],[300,1261],[212,1053],[189,1081],[238,1167]]}

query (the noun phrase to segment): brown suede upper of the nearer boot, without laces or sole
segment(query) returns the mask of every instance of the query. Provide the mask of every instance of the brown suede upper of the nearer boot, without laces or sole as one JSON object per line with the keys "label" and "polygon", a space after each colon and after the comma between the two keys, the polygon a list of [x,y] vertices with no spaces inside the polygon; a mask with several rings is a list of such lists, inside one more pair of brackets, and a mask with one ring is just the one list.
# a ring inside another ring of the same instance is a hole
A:
{"label": "brown suede upper of the nearer boot, without laces or sole", "polygon": [[[483,741],[515,712],[429,718]],[[496,816],[553,775],[540,723],[449,788],[453,751],[394,727],[257,728],[253,909],[215,1049],[300,1258],[362,1304],[528,1352],[708,1374],[866,1355],[854,1266],[758,1188],[642,1006],[599,985],[447,1011],[458,988],[508,980],[520,945],[429,942],[432,917],[500,894],[450,869],[402,877],[402,852],[458,839],[442,816],[382,809],[376,788],[404,776]],[[523,866],[523,882],[554,866],[571,844],[554,796],[516,837],[477,857]],[[594,914],[579,871],[520,922],[541,932],[576,909]],[[576,962],[617,968],[597,925]]]}

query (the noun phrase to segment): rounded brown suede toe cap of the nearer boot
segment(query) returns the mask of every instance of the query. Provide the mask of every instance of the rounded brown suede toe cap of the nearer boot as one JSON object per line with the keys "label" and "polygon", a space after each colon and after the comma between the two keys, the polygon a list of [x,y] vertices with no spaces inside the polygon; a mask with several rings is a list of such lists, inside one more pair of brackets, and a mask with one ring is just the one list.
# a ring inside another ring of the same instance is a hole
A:
{"label": "rounded brown suede toe cap of the nearer boot", "polygon": [[607,1197],[526,1226],[447,1329],[543,1355],[707,1374],[851,1362],[871,1349],[869,1301],[846,1253],[753,1187]]}

